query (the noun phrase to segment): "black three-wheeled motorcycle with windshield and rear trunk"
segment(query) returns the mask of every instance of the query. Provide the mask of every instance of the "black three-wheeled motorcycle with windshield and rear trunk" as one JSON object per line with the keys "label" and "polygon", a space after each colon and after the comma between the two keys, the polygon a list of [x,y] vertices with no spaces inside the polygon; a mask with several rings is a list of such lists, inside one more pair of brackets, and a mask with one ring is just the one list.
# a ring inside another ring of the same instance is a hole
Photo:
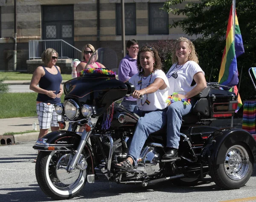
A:
{"label": "black three-wheeled motorcycle with windshield and rear trunk", "polygon": [[[116,67],[116,54],[98,49],[90,60]],[[90,61],[88,62],[90,63]],[[192,113],[183,117],[179,156],[163,160],[166,128],[152,133],[140,154],[137,167],[124,171],[114,164],[126,158],[138,115],[125,110],[122,98],[134,86],[116,79],[112,71],[88,69],[64,84],[64,103],[55,110],[63,115],[61,129],[38,139],[35,166],[40,188],[52,199],[70,199],[97,179],[144,187],[171,180],[176,185],[196,185],[209,174],[223,189],[245,185],[253,172],[256,141],[245,130],[211,127],[213,120],[232,117],[237,108],[235,93],[209,84],[197,97]],[[78,126],[84,127],[78,133]]]}

